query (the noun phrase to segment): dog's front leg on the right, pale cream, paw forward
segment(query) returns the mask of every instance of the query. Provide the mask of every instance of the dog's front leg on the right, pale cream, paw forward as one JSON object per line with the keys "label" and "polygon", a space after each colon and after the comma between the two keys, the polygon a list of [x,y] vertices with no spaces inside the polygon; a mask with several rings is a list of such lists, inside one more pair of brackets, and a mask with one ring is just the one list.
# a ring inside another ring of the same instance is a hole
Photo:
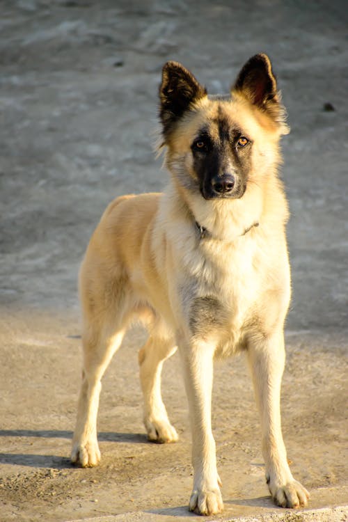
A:
{"label": "dog's front leg on the right, pale cream, paw forward", "polygon": [[248,346],[248,361],[260,409],[262,453],[269,491],[281,507],[306,506],[309,493],[292,477],[280,426],[280,383],[285,363],[283,331],[252,340]]}

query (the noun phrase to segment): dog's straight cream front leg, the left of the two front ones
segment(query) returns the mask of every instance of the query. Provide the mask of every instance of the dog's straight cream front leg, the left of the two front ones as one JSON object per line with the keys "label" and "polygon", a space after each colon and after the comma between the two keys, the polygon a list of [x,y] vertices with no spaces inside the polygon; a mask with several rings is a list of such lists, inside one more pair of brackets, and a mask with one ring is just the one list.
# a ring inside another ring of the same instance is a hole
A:
{"label": "dog's straight cream front leg, the left of the two front ones", "polygon": [[223,509],[211,420],[214,349],[207,342],[180,342],[192,432],[194,476],[189,509],[202,515]]}

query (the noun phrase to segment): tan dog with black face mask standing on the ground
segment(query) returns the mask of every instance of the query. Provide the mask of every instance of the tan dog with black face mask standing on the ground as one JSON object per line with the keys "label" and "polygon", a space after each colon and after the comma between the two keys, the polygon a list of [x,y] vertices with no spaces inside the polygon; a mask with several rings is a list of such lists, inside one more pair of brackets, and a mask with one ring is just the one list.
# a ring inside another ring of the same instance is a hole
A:
{"label": "tan dog with black face mask standing on the ground", "polygon": [[180,352],[192,432],[189,509],[221,512],[211,426],[214,358],[245,351],[260,410],[266,480],[276,505],[306,506],[280,429],[284,321],[290,301],[278,178],[285,109],[267,55],[250,58],[228,96],[209,96],[180,63],[164,65],[160,148],[164,193],[122,196],[106,208],[81,265],[84,369],[72,462],[96,466],[101,379],[129,324],[139,351],[148,439],[177,440],[161,400],[161,367]]}

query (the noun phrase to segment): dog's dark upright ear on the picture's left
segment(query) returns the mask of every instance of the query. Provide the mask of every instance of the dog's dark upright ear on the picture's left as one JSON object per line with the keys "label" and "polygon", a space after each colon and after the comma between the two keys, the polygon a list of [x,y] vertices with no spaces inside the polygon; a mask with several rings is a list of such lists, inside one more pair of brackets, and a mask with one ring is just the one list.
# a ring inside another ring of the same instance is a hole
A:
{"label": "dog's dark upright ear on the picture's left", "polygon": [[165,137],[189,106],[206,94],[207,90],[180,63],[170,61],[164,64],[159,88],[159,117]]}

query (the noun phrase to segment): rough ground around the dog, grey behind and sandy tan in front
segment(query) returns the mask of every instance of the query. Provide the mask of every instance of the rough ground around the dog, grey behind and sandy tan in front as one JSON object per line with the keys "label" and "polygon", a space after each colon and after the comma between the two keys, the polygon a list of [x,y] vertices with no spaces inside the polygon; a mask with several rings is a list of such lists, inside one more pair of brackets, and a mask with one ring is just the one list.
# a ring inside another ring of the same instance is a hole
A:
{"label": "rough ground around the dog, grey behind and sandy tan in front", "polygon": [[[164,62],[181,61],[221,93],[256,52],[271,56],[292,127],[283,141],[292,212],[288,456],[310,507],[348,502],[346,3],[2,0],[1,522],[132,512],[198,519],[186,507],[191,449],[179,361],[166,363],[164,398],[180,441],[150,444],[140,329],[103,381],[102,464],[70,466],[81,373],[77,271],[111,198],[166,185],[153,153]],[[213,404],[226,515],[278,514],[242,357],[216,366]]]}

